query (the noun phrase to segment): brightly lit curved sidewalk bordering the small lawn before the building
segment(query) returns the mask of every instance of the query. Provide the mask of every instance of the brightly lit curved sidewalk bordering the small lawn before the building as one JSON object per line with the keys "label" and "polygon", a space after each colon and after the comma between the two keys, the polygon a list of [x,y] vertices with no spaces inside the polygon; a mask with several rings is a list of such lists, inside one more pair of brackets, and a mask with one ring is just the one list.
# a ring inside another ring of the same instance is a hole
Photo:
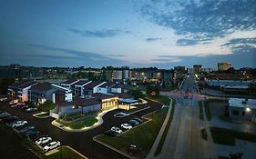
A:
{"label": "brightly lit curved sidewalk bordering the small lawn before the building", "polygon": [[56,122],[56,120],[54,120],[51,124],[55,125],[57,128],[59,128],[59,129],[61,129],[61,130],[63,130],[63,131],[66,131],[66,132],[73,132],[73,133],[86,132],[86,131],[88,131],[88,130],[90,130],[90,129],[94,129],[94,128],[96,128],[97,126],[103,124],[102,116],[103,116],[104,114],[107,114],[107,113],[110,112],[110,111],[115,110],[115,109],[118,109],[118,108],[115,107],[115,108],[109,109],[109,110],[107,110],[107,111],[103,111],[103,112],[101,112],[100,114],[97,114],[97,117],[96,117],[96,118],[97,118],[97,123],[95,123],[95,124],[93,124],[93,125],[91,125],[91,126],[88,126],[88,127],[83,127],[83,128],[81,128],[81,129],[72,129],[72,128],[67,127],[67,126],[65,126],[65,125],[63,125],[63,124],[59,124],[58,122]]}

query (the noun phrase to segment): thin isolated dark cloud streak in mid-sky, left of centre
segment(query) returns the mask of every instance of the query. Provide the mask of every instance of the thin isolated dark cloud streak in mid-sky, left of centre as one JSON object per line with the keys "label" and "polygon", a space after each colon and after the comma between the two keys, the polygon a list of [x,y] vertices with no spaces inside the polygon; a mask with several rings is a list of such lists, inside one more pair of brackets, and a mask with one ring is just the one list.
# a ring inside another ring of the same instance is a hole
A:
{"label": "thin isolated dark cloud streak in mid-sky, left of centre", "polygon": [[73,34],[87,36],[87,37],[98,37],[98,38],[115,37],[117,35],[131,34],[131,31],[120,30],[120,29],[80,30],[76,28],[68,28],[67,30]]}

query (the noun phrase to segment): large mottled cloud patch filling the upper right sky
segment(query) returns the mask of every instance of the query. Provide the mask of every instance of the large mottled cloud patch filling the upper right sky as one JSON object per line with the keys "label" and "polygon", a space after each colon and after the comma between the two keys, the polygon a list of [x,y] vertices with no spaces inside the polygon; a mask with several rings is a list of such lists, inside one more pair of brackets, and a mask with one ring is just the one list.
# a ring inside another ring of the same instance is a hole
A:
{"label": "large mottled cloud patch filling the upper right sky", "polygon": [[138,3],[150,22],[197,41],[223,37],[235,30],[256,29],[255,0],[162,0]]}

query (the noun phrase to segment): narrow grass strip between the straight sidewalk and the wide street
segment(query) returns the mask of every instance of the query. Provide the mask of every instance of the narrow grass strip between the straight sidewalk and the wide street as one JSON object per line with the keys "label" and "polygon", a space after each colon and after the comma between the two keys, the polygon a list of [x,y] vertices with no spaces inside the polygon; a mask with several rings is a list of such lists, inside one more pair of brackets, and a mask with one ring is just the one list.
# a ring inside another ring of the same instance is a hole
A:
{"label": "narrow grass strip between the straight sidewalk and the wide street", "polygon": [[165,138],[166,138],[166,136],[167,136],[167,134],[168,134],[169,126],[170,126],[170,124],[171,124],[172,117],[173,117],[173,114],[174,114],[174,109],[175,109],[174,104],[175,104],[175,102],[174,102],[174,99],[173,99],[173,103],[172,103],[173,107],[172,107],[171,112],[170,112],[170,115],[169,115],[168,124],[167,124],[166,127],[165,127],[164,133],[163,133],[162,136],[161,136],[161,139],[160,139],[160,141],[159,141],[159,145],[158,145],[157,150],[156,150],[156,152],[155,152],[154,155],[158,155],[158,154],[161,152],[161,150],[162,150],[162,146],[163,146],[164,141],[165,141]]}

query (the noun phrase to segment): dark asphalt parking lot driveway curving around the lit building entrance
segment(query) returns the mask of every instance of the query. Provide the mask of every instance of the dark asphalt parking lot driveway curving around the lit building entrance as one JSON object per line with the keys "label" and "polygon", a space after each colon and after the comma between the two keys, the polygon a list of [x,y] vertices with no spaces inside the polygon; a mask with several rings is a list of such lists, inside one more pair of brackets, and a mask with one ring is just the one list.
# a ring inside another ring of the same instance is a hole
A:
{"label": "dark asphalt parking lot driveway curving around the lit building entrance", "polygon": [[103,116],[104,123],[92,130],[87,132],[81,133],[68,133],[60,130],[56,126],[52,125],[51,122],[54,120],[53,118],[45,118],[45,119],[38,119],[32,116],[31,113],[26,113],[26,111],[12,108],[7,102],[0,103],[0,109],[4,110],[10,114],[15,114],[16,116],[20,117],[21,119],[26,120],[29,124],[35,125],[36,129],[40,132],[40,134],[48,134],[54,140],[60,141],[62,145],[69,145],[76,149],[81,154],[86,155],[89,158],[126,158],[125,156],[118,154],[107,147],[97,144],[92,140],[94,136],[97,134],[104,134],[107,130],[109,130],[112,126],[118,126],[122,123],[128,123],[128,121],[134,117],[141,117],[144,114],[148,114],[150,112],[159,110],[161,104],[157,104],[151,101],[148,101],[148,105],[150,108],[137,114],[132,114],[126,117],[117,118],[114,117],[114,114],[121,112],[122,110],[114,110],[108,112]]}

